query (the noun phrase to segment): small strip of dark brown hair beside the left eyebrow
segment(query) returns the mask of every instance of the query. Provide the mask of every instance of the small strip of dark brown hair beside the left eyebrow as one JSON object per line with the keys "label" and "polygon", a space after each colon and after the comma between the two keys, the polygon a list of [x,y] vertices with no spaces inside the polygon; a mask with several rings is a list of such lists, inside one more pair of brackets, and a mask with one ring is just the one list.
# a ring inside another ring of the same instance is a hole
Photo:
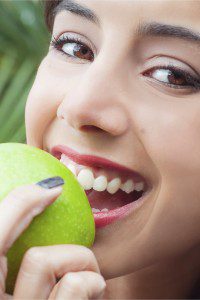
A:
{"label": "small strip of dark brown hair beside the left eyebrow", "polygon": [[54,23],[54,10],[55,8],[62,2],[62,0],[45,0],[44,1],[44,15],[45,15],[45,22],[47,28],[50,32],[53,29]]}

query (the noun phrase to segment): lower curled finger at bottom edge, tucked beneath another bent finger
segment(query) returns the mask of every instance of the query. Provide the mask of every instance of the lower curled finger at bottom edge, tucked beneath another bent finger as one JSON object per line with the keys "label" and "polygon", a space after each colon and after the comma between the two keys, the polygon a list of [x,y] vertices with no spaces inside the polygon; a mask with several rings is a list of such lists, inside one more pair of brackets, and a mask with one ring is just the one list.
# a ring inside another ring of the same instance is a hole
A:
{"label": "lower curled finger at bottom edge, tucked beneath another bent finger", "polygon": [[102,299],[105,288],[106,282],[98,273],[70,272],[61,279],[54,299]]}

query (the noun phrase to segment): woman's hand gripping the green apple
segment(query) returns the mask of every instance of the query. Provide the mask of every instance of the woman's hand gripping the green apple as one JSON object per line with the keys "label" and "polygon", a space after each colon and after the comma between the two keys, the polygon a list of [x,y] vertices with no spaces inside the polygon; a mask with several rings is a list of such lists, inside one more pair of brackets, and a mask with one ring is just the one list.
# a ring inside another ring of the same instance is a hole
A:
{"label": "woman's hand gripping the green apple", "polygon": [[8,249],[61,191],[60,187],[21,186],[0,203],[0,299],[102,299],[106,284],[97,260],[90,249],[78,245],[30,248],[13,296],[5,294]]}

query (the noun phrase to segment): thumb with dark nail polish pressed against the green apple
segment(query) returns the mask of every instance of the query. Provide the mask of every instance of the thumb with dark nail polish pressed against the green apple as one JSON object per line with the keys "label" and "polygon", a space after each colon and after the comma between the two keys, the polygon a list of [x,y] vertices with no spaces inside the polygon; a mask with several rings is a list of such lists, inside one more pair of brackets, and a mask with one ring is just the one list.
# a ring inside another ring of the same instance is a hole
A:
{"label": "thumb with dark nail polish pressed against the green apple", "polygon": [[14,241],[61,193],[62,187],[45,189],[36,184],[12,190],[0,203],[0,255],[5,255]]}

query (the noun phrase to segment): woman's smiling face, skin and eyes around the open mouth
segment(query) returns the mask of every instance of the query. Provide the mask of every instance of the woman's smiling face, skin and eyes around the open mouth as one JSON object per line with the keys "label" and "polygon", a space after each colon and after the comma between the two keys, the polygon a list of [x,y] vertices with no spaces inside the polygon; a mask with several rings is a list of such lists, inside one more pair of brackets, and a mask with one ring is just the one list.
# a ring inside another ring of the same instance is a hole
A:
{"label": "woman's smiling face, skin and eyes around the open mouth", "polygon": [[76,3],[99,23],[58,10],[26,105],[27,143],[67,145],[148,182],[137,210],[96,230],[92,250],[112,278],[199,243],[200,36],[190,31],[200,34],[200,2]]}

